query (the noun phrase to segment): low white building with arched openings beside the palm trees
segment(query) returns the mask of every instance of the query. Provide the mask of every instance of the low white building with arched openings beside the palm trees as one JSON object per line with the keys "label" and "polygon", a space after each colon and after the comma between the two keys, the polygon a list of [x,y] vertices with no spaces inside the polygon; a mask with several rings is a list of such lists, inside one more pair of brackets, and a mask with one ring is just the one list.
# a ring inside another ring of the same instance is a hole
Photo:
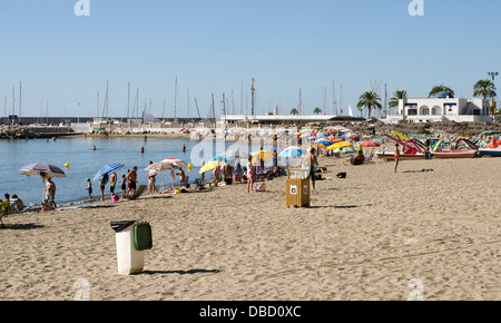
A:
{"label": "low white building with arched openings beside the palm trees", "polygon": [[434,98],[399,100],[399,115],[390,115],[386,120],[390,124],[401,120],[485,123],[492,121],[489,110],[489,100],[458,99],[449,92],[440,92]]}

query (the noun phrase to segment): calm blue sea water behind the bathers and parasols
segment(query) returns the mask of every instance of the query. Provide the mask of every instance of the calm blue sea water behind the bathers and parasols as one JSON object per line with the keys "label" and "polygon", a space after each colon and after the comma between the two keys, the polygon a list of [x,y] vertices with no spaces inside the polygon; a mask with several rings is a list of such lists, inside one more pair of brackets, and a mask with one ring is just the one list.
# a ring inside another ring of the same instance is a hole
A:
{"label": "calm blue sea water behind the bathers and parasols", "polygon": [[[186,145],[187,153],[183,153],[183,145]],[[19,168],[33,163],[53,164],[67,174],[67,178],[53,179],[57,185],[56,202],[58,204],[87,199],[86,179],[92,178],[101,167],[110,163],[125,164],[125,167],[117,173],[119,179],[122,174],[127,173],[127,169],[137,166],[139,184],[147,185],[145,168],[150,160],[155,163],[166,158],[179,158],[186,164],[194,164],[191,172],[185,169],[189,182],[193,183],[200,177],[198,175],[200,159],[208,160],[216,153],[227,149],[232,145],[234,144],[223,141],[199,143],[153,138],[148,138],[147,141],[135,138],[59,138],[48,143],[46,139],[0,140],[0,194],[2,199],[6,193],[18,194],[27,206],[39,205],[43,199],[42,178],[40,176],[28,177],[19,172]],[[96,146],[96,151],[92,146]],[[141,146],[145,147],[145,154],[140,153]],[[191,149],[196,154],[191,154]],[[69,169],[65,169],[66,163],[70,164]],[[178,183],[179,177],[176,176],[174,184]],[[169,170],[157,176],[157,187],[167,185],[170,185]],[[117,187],[119,193],[119,185]],[[92,188],[94,197],[99,197],[99,183],[92,182]],[[108,187],[106,193],[109,194]]]}

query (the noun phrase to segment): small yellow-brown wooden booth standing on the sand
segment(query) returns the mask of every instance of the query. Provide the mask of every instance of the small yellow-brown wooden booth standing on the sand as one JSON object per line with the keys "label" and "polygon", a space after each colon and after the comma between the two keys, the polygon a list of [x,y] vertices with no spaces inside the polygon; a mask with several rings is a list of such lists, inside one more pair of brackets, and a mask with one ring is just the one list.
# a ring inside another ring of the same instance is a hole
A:
{"label": "small yellow-brown wooden booth standing on the sand", "polygon": [[310,206],[310,169],[287,170],[286,206]]}

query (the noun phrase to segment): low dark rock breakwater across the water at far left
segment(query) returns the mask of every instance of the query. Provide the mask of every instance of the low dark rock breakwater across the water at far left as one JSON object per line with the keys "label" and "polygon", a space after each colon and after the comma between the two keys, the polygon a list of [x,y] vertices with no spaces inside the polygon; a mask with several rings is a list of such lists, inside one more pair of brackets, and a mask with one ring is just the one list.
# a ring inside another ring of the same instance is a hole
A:
{"label": "low dark rock breakwater across the water at far left", "polygon": [[0,126],[0,139],[37,139],[75,135],[70,127]]}

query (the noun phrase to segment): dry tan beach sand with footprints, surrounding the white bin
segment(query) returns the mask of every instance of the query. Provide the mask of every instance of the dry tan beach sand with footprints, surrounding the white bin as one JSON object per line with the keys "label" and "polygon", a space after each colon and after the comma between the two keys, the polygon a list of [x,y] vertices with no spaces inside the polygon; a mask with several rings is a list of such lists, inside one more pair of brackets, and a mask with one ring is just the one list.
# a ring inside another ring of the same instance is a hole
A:
{"label": "dry tan beach sand with footprints, surrounding the white bin", "polygon": [[[0,229],[0,300],[501,298],[501,159],[350,167],[321,160],[311,208],[285,207],[285,177],[17,215]],[[347,178],[335,175],[346,172]],[[117,274],[111,221],[147,219],[145,272]],[[418,285],[414,285],[418,286]]]}

